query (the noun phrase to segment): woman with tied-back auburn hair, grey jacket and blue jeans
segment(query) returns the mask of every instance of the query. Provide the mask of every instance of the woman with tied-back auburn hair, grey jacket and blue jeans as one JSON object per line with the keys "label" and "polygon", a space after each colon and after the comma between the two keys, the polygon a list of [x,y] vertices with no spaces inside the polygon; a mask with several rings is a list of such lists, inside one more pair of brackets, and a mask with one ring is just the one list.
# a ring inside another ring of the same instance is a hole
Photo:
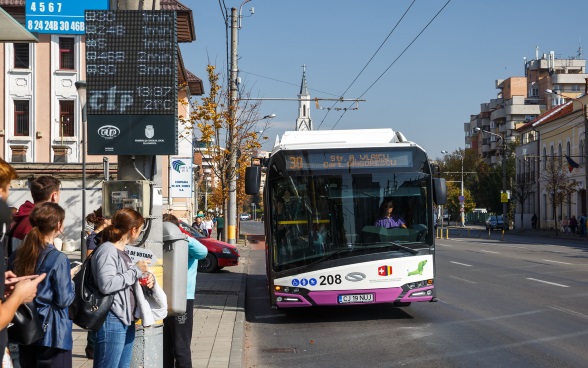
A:
{"label": "woman with tied-back auburn hair, grey jacket and blue jeans", "polygon": [[94,367],[129,367],[135,340],[134,311],[137,305],[133,287],[147,275],[147,287],[153,288],[153,275],[147,273],[149,261],[134,264],[125,252],[141,234],[144,219],[131,208],[116,212],[112,223],[103,233],[102,243],[92,256],[92,270],[96,285],[103,294],[114,294],[106,320],[96,332]]}

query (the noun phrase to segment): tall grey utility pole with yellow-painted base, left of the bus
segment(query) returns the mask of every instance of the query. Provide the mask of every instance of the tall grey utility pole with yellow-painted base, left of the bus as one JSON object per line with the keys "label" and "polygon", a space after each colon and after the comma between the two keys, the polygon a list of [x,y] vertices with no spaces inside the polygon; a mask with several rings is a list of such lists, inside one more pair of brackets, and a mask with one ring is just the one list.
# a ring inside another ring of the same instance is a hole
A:
{"label": "tall grey utility pole with yellow-painted base, left of the bus", "polygon": [[237,116],[237,46],[239,33],[237,8],[231,8],[231,80],[229,81],[229,203],[227,208],[227,243],[237,242],[237,147],[235,123]]}

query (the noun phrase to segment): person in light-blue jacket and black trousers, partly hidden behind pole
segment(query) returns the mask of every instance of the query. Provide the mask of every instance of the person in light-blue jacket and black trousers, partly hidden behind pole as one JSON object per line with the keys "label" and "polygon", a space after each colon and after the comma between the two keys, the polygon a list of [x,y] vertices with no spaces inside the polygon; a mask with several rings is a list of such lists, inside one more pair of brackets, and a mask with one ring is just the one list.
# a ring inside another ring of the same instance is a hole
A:
{"label": "person in light-blue jacket and black trousers, partly hidden behind pole", "polygon": [[[180,223],[172,214],[163,215],[163,221],[179,227]],[[181,228],[180,228],[181,229]],[[198,260],[208,254],[208,250],[198,240],[188,236],[188,288],[186,313],[168,316],[163,320],[163,366],[165,368],[192,368],[192,327],[194,325],[194,293]],[[174,365],[175,361],[175,365]]]}

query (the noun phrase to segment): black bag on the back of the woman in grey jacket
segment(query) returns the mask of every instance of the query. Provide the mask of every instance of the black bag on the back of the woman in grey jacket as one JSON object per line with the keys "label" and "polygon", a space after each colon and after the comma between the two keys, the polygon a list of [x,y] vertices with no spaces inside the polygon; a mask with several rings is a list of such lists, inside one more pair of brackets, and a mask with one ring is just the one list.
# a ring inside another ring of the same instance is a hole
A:
{"label": "black bag on the back of the woman in grey jacket", "polygon": [[91,263],[94,253],[96,250],[86,258],[73,278],[75,297],[69,306],[69,318],[83,329],[98,331],[106,320],[114,294],[102,294],[94,282]]}

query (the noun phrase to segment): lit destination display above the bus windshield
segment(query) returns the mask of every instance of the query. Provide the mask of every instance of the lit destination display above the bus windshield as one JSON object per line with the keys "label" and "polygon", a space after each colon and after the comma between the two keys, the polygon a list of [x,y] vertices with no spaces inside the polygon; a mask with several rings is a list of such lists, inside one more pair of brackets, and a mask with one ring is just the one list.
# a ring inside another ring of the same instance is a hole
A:
{"label": "lit destination display above the bus windshield", "polygon": [[286,153],[287,170],[412,167],[411,151],[323,151]]}

